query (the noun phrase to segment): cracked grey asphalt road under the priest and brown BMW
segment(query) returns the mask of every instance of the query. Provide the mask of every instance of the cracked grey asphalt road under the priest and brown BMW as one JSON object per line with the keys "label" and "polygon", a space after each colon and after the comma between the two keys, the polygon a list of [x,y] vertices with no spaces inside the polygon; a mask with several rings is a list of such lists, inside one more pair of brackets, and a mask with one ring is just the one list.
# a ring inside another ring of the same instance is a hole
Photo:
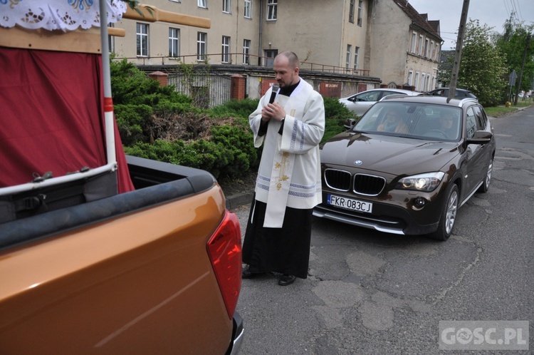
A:
{"label": "cracked grey asphalt road under the priest and brown BMW", "polygon": [[[461,207],[449,240],[315,219],[308,279],[243,280],[241,354],[451,354],[439,321],[530,321],[534,334],[534,108],[491,122],[490,190]],[[234,212],[244,233],[248,205]],[[530,352],[483,354],[531,354],[525,337]]]}

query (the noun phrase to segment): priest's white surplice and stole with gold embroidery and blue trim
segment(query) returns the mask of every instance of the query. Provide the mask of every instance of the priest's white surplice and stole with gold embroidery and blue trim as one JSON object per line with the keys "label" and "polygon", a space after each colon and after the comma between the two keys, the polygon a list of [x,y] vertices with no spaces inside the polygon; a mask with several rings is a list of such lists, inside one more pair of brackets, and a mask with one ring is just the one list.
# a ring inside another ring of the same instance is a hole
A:
{"label": "priest's white surplice and stole with gold embroidery and blue trim", "polygon": [[261,110],[271,97],[270,88],[249,116],[254,146],[263,144],[256,179],[256,200],[267,204],[263,227],[281,228],[286,207],[310,209],[322,202],[318,144],[325,130],[323,97],[300,78],[290,96],[278,95],[286,110],[282,123],[271,119],[265,135],[258,135]]}

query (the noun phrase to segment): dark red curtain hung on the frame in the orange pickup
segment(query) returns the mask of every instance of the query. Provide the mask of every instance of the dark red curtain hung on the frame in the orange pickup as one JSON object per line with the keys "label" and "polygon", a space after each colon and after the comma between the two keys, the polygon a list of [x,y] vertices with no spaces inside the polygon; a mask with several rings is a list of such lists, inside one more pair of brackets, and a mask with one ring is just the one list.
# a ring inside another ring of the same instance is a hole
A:
{"label": "dark red curtain hung on the frame in the orange pickup", "polygon": [[[0,187],[105,165],[98,54],[0,47]],[[133,190],[115,125],[119,192]]]}

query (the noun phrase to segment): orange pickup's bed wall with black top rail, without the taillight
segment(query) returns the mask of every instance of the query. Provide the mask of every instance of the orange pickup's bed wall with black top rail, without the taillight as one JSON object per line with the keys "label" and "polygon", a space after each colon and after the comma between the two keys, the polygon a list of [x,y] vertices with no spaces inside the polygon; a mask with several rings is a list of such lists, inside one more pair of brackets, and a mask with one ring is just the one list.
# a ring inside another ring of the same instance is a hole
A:
{"label": "orange pickup's bed wall with black top rail, without the taillight", "polygon": [[202,170],[127,160],[135,191],[0,225],[1,354],[228,349],[206,252],[221,188]]}

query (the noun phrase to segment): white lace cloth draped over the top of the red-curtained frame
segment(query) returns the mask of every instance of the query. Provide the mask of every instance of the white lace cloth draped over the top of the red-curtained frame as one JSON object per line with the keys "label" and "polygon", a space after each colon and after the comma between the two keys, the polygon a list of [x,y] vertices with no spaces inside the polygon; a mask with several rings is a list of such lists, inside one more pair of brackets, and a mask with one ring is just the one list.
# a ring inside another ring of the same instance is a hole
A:
{"label": "white lace cloth draped over the top of the red-curtained frame", "polygon": [[[100,27],[100,0],[0,0],[0,26],[72,31]],[[108,24],[122,19],[126,3],[106,0]]]}

